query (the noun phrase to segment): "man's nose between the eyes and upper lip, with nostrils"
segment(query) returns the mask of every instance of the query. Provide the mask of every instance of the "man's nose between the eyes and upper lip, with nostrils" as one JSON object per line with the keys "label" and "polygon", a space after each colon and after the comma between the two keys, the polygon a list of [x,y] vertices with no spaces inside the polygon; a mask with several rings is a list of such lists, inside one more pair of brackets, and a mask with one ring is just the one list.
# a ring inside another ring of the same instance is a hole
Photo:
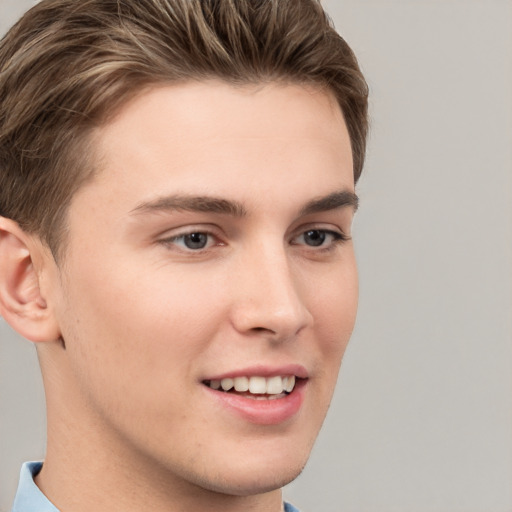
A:
{"label": "man's nose between the eyes and upper lip, with nostrils", "polygon": [[305,283],[298,270],[285,248],[260,248],[243,255],[232,281],[235,329],[246,335],[285,341],[312,325]]}

